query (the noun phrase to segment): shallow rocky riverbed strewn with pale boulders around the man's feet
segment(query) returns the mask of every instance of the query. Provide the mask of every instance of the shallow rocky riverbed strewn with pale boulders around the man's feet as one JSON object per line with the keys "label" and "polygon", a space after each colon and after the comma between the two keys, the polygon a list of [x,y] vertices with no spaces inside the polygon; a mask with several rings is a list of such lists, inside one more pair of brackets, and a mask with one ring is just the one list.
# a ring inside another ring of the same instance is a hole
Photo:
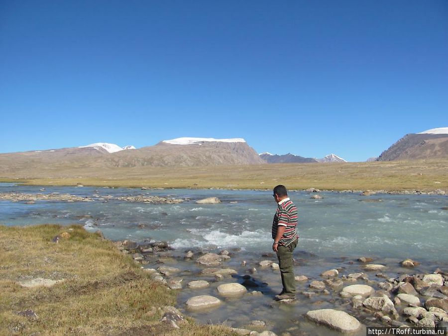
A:
{"label": "shallow rocky riverbed strewn with pale boulders around the man's feet", "polygon": [[[249,259],[238,249],[180,251],[151,240],[116,245],[151,278],[179,292],[181,312],[203,323],[224,322],[241,335],[365,335],[365,327],[448,326],[448,273],[411,259],[315,264],[299,251],[297,298],[277,302],[281,283],[273,253]],[[310,274],[313,268],[322,271]]]}

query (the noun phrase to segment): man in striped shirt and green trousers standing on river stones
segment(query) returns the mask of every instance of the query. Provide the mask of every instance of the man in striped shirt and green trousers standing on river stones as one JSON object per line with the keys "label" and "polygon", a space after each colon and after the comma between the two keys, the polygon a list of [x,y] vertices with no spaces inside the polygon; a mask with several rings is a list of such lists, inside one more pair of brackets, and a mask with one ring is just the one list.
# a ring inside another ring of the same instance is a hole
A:
{"label": "man in striped shirt and green trousers standing on river stones", "polygon": [[273,195],[278,207],[272,222],[272,250],[277,252],[283,290],[276,295],[277,300],[295,299],[296,283],[292,254],[297,246],[297,208],[289,199],[286,187],[278,185]]}

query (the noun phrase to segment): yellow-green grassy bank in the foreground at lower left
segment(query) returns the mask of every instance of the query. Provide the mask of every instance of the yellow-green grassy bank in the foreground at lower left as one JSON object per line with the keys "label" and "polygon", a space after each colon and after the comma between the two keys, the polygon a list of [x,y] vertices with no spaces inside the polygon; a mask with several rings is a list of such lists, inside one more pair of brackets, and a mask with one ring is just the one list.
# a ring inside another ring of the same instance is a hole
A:
{"label": "yellow-green grassy bank in the foreground at lower left", "polygon": [[[190,320],[180,330],[160,322],[158,308],[174,306],[175,292],[81,226],[0,226],[0,237],[0,335],[230,335]],[[62,281],[20,285],[35,278]],[[26,310],[37,317],[18,314]]]}

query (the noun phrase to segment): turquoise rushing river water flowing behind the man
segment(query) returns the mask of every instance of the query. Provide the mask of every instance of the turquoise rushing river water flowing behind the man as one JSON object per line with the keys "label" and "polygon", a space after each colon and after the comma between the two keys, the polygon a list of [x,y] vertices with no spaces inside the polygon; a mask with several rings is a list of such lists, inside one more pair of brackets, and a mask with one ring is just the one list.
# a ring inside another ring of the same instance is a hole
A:
{"label": "turquoise rushing river water flowing behind the man", "polygon": [[[175,248],[241,248],[266,251],[276,204],[271,191],[140,190],[95,187],[40,187],[0,184],[0,192],[67,193],[79,196],[157,195],[187,199],[153,205],[123,201],[0,201],[0,224],[82,224],[107,238],[166,240]],[[299,210],[299,249],[320,257],[376,257],[447,261],[447,196],[290,192]],[[195,201],[216,196],[222,203]],[[98,197],[97,197],[98,199]],[[377,200],[378,202],[366,202]],[[143,227],[140,227],[140,226]]]}

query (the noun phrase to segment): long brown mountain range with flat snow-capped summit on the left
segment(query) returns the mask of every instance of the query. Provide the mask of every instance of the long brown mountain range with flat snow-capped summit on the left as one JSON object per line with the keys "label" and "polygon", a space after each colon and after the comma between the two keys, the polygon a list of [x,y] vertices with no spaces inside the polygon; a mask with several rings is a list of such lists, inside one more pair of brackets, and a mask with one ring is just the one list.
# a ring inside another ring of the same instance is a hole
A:
{"label": "long brown mountain range with flat snow-capped summit on the left", "polygon": [[[130,150],[132,149],[132,150]],[[264,164],[244,139],[177,138],[135,149],[111,143],[0,154],[0,172],[34,169]]]}

